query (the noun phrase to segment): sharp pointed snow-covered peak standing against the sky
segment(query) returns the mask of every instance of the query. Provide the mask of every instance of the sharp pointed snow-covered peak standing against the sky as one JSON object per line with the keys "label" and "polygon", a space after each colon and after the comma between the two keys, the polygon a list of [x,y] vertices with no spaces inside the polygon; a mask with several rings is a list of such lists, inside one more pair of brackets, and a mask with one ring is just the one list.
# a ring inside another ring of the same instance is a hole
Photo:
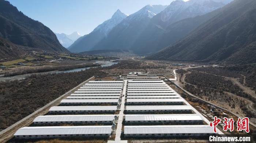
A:
{"label": "sharp pointed snow-covered peak standing against the sky", "polygon": [[111,19],[104,21],[102,24],[98,25],[93,32],[95,31],[100,31],[102,32],[105,36],[108,35],[109,31],[115,27],[117,24],[119,24],[123,19],[125,19],[127,15],[122,13],[119,9],[113,14]]}

